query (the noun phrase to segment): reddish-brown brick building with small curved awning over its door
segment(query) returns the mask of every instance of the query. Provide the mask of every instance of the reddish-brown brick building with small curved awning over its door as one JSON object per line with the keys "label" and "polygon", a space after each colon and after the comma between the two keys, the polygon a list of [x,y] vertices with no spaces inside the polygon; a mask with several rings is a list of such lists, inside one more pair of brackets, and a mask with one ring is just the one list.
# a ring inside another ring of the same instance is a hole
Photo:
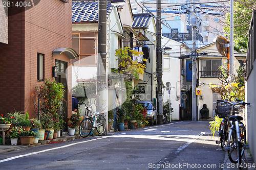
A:
{"label": "reddish-brown brick building with small curved awning over its door", "polygon": [[[31,93],[44,84],[44,78],[55,79],[52,67],[56,64],[56,81],[68,87],[60,66],[69,66],[77,56],[68,48],[72,47],[71,12],[72,2],[60,0],[41,0],[29,9],[9,7],[8,44],[0,44],[0,113],[26,111],[36,117]],[[65,117],[71,114],[72,103],[66,91]]]}

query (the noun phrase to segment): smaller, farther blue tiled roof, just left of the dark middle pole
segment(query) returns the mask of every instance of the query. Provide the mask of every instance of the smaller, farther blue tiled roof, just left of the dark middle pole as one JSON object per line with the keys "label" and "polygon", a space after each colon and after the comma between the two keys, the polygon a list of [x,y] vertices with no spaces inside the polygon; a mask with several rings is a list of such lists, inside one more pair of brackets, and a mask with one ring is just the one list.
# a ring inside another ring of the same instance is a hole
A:
{"label": "smaller, farther blue tiled roof, just left of the dark middle pole", "polygon": [[133,14],[134,22],[133,28],[148,28],[150,25],[152,16],[149,14]]}

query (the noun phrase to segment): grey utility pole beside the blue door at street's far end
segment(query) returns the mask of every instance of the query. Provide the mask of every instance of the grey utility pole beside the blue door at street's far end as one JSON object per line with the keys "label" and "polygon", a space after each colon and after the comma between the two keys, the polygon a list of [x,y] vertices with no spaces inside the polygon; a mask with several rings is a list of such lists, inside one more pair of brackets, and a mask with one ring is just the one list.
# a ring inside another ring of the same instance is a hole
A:
{"label": "grey utility pole beside the blue door at street's far end", "polygon": [[192,120],[197,120],[197,96],[196,96],[196,87],[197,87],[197,51],[196,51],[196,29],[198,26],[198,19],[196,16],[195,0],[193,0],[193,9],[192,15],[190,17],[189,26],[192,27]]}

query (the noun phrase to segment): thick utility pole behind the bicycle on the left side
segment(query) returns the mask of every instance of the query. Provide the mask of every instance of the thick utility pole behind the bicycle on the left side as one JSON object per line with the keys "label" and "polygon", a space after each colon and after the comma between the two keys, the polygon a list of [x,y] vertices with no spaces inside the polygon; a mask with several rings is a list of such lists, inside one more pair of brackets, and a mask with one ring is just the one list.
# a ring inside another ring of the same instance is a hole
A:
{"label": "thick utility pole behind the bicycle on the left side", "polygon": [[[99,0],[99,14],[98,14],[98,56],[97,56],[97,111],[101,111],[103,107],[106,111],[105,118],[108,120],[107,105],[104,104],[108,101],[108,94],[104,92],[106,89],[106,0]],[[106,107],[106,108],[105,108]],[[106,121],[106,127],[108,127],[108,121]],[[108,130],[106,130],[108,134]]]}

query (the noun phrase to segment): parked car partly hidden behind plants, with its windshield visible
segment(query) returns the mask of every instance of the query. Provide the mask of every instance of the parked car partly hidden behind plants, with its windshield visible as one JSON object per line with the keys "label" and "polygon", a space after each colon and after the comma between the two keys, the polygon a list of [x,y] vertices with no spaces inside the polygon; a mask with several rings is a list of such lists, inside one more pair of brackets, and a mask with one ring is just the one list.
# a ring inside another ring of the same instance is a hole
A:
{"label": "parked car partly hidden behind plants, with its windshield visible", "polygon": [[148,102],[148,101],[139,101],[138,104],[141,104],[142,107],[146,108],[147,111],[147,118],[148,122],[151,125],[156,125],[157,124],[157,109],[156,106],[154,105],[153,102]]}

